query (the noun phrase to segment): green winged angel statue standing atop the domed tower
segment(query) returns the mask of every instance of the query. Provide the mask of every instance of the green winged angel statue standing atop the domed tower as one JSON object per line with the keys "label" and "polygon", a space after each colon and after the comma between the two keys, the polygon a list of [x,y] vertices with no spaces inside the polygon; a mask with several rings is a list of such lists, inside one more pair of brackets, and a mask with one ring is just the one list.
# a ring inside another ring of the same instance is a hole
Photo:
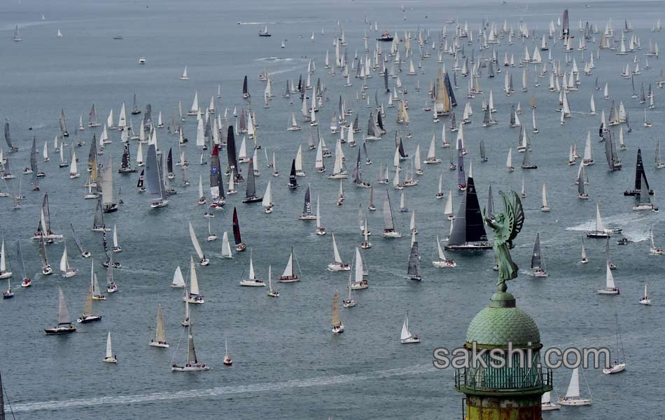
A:
{"label": "green winged angel statue standing atop the domed tower", "polygon": [[488,215],[485,212],[484,220],[494,231],[493,248],[499,272],[496,286],[498,290],[505,292],[505,281],[517,277],[518,267],[510,257],[510,249],[514,247],[513,239],[517,237],[524,225],[524,209],[522,209],[519,196],[514,191],[512,191],[512,197],[506,197],[503,191],[499,191],[499,195],[503,200],[503,213]]}

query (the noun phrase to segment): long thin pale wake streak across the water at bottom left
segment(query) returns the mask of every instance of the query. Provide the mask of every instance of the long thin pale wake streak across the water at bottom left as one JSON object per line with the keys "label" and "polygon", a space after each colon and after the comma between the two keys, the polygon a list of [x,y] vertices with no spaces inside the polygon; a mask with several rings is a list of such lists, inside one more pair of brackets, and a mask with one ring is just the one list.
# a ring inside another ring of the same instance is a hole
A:
{"label": "long thin pale wake streak across the water at bottom left", "polygon": [[363,381],[367,379],[385,379],[395,376],[405,376],[435,372],[433,365],[416,365],[412,367],[398,367],[396,369],[377,370],[367,373],[342,374],[333,377],[316,377],[310,379],[295,379],[293,381],[267,382],[263,384],[217,386],[215,388],[192,389],[190,391],[160,392],[138,395],[116,395],[98,398],[77,398],[72,400],[26,402],[13,405],[14,412],[31,412],[52,409],[74,409],[79,407],[92,407],[105,404],[134,404],[142,402],[153,402],[162,400],[180,400],[192,398],[206,398],[237,393],[265,393],[267,391],[279,391],[287,388],[307,388],[310,386],[328,386],[347,384],[349,382]]}

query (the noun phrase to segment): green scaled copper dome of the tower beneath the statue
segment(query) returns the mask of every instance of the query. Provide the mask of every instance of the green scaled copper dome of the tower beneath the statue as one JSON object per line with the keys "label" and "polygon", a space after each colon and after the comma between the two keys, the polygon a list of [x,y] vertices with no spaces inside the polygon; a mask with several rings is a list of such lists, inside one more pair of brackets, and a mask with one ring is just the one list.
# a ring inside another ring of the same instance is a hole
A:
{"label": "green scaled copper dome of the tower beneath the statue", "polygon": [[466,342],[478,346],[539,347],[540,331],[533,318],[515,306],[513,295],[494,293],[491,304],[480,311],[466,330]]}

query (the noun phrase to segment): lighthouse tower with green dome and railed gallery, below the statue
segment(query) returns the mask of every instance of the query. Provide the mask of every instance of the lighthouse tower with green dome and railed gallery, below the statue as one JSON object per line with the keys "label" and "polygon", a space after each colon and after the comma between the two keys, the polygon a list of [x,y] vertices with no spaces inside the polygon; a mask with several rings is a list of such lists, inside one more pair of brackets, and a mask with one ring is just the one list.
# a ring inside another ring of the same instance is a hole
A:
{"label": "lighthouse tower with green dome and railed gallery, below the statue", "polygon": [[[464,420],[541,420],[540,399],[552,391],[552,370],[540,366],[538,325],[506,289],[505,283],[498,285],[489,307],[473,318],[466,332],[465,349],[486,350],[486,366],[476,363],[456,371],[455,389],[465,395]],[[517,352],[509,354],[509,346]],[[491,357],[493,349],[502,356]]]}

